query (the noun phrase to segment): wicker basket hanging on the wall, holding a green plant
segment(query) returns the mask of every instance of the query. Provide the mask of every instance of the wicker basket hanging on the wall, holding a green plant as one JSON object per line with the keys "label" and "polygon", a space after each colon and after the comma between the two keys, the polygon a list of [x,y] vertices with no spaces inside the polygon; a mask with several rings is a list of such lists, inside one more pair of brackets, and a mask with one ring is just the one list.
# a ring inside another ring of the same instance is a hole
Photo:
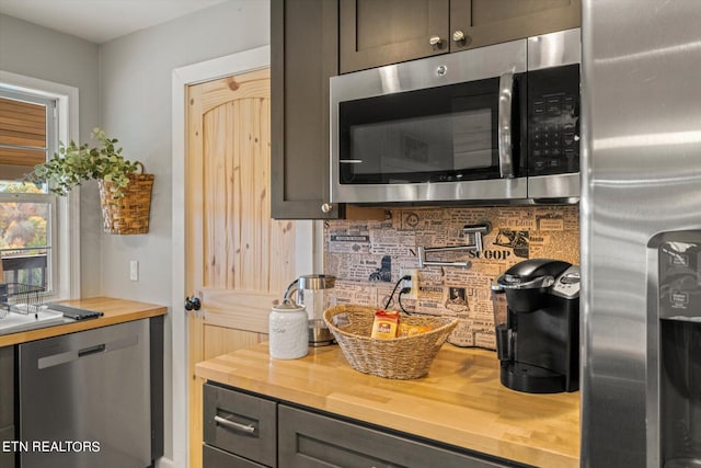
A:
{"label": "wicker basket hanging on the wall, holding a green plant", "polygon": [[151,190],[153,174],[129,174],[129,184],[124,189],[122,198],[112,195],[112,182],[100,180],[100,204],[105,232],[118,235],[137,235],[149,231],[151,214]]}

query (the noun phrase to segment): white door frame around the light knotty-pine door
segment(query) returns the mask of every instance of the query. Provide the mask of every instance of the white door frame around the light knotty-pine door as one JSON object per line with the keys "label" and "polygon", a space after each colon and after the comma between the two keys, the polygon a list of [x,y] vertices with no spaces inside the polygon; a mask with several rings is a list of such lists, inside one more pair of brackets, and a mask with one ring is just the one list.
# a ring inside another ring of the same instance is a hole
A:
{"label": "white door frame around the light knotty-pine door", "polygon": [[[186,167],[186,88],[205,81],[211,81],[232,75],[260,70],[271,65],[271,47],[263,46],[211,60],[173,69],[172,72],[172,427],[173,427],[173,466],[187,467],[189,457],[189,418],[188,418],[188,369],[187,356],[187,317],[182,307],[185,296],[193,292],[185,290],[185,184]],[[320,264],[319,252],[314,246],[319,228],[312,221],[296,221],[295,265],[296,274],[308,274]],[[290,278],[290,282],[294,278]],[[280,292],[280,295],[283,292]]]}

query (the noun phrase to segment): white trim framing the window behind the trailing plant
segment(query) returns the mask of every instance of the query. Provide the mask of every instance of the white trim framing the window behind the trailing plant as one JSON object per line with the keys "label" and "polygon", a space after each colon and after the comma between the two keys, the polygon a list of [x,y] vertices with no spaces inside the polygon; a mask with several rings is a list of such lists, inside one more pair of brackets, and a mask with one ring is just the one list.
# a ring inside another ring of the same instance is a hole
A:
{"label": "white trim framing the window behind the trailing plant", "polygon": [[[0,70],[0,83],[16,91],[55,99],[58,112],[58,139],[80,138],[78,88]],[[58,244],[60,298],[80,297],[80,191],[58,198],[58,222],[67,229]],[[65,278],[68,278],[66,281]]]}

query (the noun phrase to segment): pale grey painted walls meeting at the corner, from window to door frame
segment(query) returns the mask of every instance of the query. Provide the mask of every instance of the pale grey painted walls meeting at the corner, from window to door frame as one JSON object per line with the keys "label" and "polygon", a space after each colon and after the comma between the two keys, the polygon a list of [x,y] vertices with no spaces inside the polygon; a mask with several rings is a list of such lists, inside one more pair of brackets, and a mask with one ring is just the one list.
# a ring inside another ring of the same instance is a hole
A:
{"label": "pale grey painted walls meeting at the corner, from window to door frame", "polygon": [[[102,231],[94,183],[81,194],[82,293],[169,306],[165,330],[165,455],[171,434],[171,79],[174,68],[269,44],[268,0],[229,0],[100,46],[0,15],[0,69],[80,90],[80,136],[94,126],[117,138],[124,155],[156,174],[148,235]],[[139,281],[129,281],[129,261]],[[184,298],[183,298],[184,299]]]}

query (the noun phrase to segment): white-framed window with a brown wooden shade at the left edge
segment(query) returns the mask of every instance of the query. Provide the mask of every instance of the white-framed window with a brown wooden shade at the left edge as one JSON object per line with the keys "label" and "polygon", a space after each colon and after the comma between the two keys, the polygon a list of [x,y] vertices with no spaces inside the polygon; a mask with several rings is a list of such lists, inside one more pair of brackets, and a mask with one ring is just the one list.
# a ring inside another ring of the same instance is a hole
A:
{"label": "white-framed window with a brown wooden shade at the left edge", "polygon": [[78,196],[59,197],[25,174],[70,139],[77,98],[72,88],[0,71],[0,283],[43,286],[47,297],[79,292]]}

